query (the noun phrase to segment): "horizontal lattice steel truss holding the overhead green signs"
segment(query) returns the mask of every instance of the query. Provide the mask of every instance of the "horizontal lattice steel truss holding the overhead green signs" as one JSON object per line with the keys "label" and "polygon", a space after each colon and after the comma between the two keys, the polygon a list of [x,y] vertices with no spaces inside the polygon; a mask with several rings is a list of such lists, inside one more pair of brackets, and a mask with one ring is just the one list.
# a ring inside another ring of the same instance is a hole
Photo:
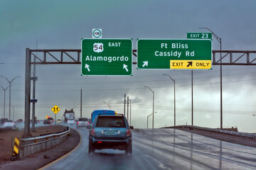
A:
{"label": "horizontal lattice steel truss holding the overhead green signs", "polygon": [[[31,64],[81,64],[81,50],[29,50]],[[256,65],[256,51],[245,50],[213,50],[213,65]],[[137,50],[132,50],[137,57]],[[36,57],[36,62],[33,62]],[[132,64],[137,64],[133,62]]]}

